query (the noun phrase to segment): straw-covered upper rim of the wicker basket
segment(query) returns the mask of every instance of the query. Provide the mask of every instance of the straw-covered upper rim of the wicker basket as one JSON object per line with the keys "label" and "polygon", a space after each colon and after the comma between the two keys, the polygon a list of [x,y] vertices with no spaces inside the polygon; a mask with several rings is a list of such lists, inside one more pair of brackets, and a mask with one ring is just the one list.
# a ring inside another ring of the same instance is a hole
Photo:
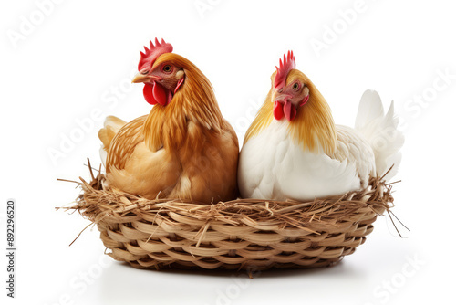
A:
{"label": "straw-covered upper rim of the wicker basket", "polygon": [[[227,202],[205,205],[182,199],[146,199],[131,195],[106,184],[104,174],[92,174],[88,183],[79,178],[81,194],[76,205],[67,209],[78,210],[92,223],[129,223],[144,220],[162,222],[166,218],[179,218],[182,223],[226,224],[232,226],[270,226],[286,223],[306,229],[309,223],[335,225],[344,221],[362,221],[363,215],[383,216],[394,206],[392,185],[380,178],[371,178],[368,187],[343,195],[316,198],[305,202],[295,200],[264,200],[238,198]],[[163,217],[165,216],[165,217]]]}

